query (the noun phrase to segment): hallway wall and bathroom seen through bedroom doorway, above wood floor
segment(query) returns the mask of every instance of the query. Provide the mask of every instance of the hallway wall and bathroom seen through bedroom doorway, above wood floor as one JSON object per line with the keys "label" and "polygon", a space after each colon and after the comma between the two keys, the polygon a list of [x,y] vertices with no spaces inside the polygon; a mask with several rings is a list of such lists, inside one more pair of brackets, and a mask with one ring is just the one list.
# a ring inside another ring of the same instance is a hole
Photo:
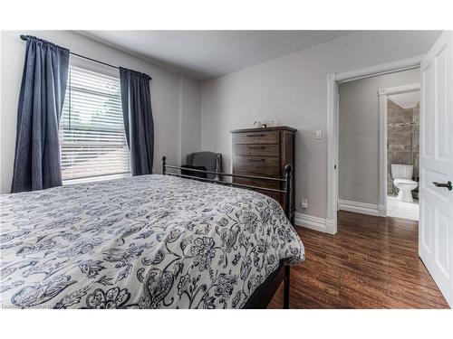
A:
{"label": "hallway wall and bathroom seen through bedroom doorway, above wood floor", "polygon": [[338,92],[338,209],[415,218],[407,195],[419,169],[419,69],[343,82]]}

